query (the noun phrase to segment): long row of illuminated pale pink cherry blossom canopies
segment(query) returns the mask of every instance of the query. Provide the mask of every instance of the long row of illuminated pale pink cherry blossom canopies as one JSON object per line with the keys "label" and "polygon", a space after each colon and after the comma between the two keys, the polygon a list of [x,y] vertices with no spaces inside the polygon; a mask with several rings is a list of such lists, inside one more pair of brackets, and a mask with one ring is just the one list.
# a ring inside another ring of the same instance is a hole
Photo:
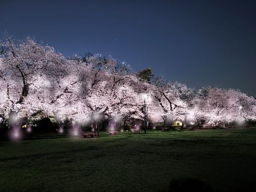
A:
{"label": "long row of illuminated pale pink cherry blossom canopies", "polygon": [[[256,119],[256,99],[234,89],[198,90],[160,77],[141,80],[111,56],[65,58],[33,38],[0,43],[0,120],[20,117],[70,118],[77,122],[115,116],[165,121],[224,123]],[[144,77],[143,77],[144,78]],[[145,77],[146,78],[146,77]],[[95,123],[95,122],[94,122]]]}

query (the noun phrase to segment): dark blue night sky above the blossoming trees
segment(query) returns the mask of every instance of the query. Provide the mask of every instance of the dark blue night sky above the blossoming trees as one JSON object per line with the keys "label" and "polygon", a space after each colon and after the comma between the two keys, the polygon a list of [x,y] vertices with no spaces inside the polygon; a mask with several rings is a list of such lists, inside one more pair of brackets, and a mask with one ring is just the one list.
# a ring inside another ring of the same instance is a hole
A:
{"label": "dark blue night sky above the blossoming trees", "polygon": [[0,0],[0,31],[256,95],[256,0]]}

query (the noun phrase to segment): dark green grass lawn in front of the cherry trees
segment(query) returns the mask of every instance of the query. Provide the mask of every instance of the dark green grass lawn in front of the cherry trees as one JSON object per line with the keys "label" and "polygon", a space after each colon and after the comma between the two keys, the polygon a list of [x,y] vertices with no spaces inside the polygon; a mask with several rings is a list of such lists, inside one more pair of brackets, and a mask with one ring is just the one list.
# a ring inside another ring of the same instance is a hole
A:
{"label": "dark green grass lawn in front of the cherry trees", "polygon": [[0,141],[0,191],[168,191],[173,178],[214,191],[256,181],[256,128],[127,132]]}

